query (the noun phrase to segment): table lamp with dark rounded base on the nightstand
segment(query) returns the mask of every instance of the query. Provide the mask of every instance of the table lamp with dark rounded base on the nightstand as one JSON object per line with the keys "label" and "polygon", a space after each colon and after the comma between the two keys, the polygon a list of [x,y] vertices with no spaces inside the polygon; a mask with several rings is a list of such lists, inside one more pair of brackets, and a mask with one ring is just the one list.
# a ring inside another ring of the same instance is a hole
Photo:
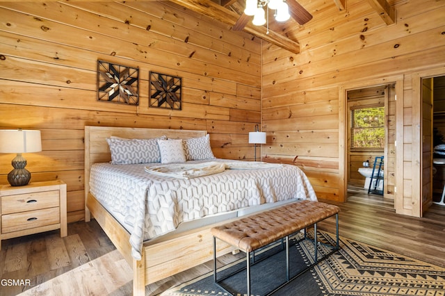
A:
{"label": "table lamp with dark rounded base on the nightstand", "polygon": [[0,130],[0,153],[17,153],[11,164],[14,167],[8,174],[11,186],[24,186],[31,180],[31,173],[25,169],[26,159],[22,153],[42,151],[40,131],[22,129]]}

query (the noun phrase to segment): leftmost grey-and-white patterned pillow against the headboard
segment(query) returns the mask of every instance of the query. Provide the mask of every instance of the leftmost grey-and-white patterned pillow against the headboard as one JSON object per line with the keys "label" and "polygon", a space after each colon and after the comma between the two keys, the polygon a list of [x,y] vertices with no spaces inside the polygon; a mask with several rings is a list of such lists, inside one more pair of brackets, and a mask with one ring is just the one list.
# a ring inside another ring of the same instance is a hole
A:
{"label": "leftmost grey-and-white patterned pillow against the headboard", "polygon": [[165,135],[153,139],[106,138],[111,151],[113,165],[129,165],[135,163],[160,163],[158,139],[166,139]]}

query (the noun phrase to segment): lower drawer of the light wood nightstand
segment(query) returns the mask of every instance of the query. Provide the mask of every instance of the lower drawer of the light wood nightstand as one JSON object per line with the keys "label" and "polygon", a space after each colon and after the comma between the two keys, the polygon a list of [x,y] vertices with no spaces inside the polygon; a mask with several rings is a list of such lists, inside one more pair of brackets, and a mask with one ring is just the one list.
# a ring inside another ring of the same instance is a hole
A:
{"label": "lower drawer of the light wood nightstand", "polygon": [[44,208],[1,216],[1,233],[60,223],[60,208]]}

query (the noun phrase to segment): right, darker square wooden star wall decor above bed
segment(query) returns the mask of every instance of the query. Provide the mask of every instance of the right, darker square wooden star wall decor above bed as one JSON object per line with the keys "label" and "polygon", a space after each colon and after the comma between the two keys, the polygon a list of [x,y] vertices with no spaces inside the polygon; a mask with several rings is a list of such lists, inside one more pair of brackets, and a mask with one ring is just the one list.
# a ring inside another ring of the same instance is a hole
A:
{"label": "right, darker square wooden star wall decor above bed", "polygon": [[149,72],[149,106],[181,110],[181,78]]}

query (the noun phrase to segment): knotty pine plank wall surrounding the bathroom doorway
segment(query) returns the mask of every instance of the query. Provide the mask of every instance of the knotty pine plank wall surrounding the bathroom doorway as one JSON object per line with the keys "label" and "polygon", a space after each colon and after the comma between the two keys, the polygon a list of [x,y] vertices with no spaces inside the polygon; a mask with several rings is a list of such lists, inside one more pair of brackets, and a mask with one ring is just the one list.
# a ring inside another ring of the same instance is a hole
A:
{"label": "knotty pine plank wall surrounding the bathroom doorway", "polygon": [[[262,128],[273,142],[262,157],[302,165],[318,197],[345,200],[345,85],[397,82],[396,126],[402,138],[396,147],[401,158],[394,156],[401,159],[396,211],[420,216],[421,101],[413,79],[428,69],[445,74],[445,1],[389,3],[396,9],[393,25],[368,1],[348,0],[346,10],[326,6],[318,10],[324,22],[294,32],[301,54],[264,44]],[[309,1],[304,4],[311,9]]]}

